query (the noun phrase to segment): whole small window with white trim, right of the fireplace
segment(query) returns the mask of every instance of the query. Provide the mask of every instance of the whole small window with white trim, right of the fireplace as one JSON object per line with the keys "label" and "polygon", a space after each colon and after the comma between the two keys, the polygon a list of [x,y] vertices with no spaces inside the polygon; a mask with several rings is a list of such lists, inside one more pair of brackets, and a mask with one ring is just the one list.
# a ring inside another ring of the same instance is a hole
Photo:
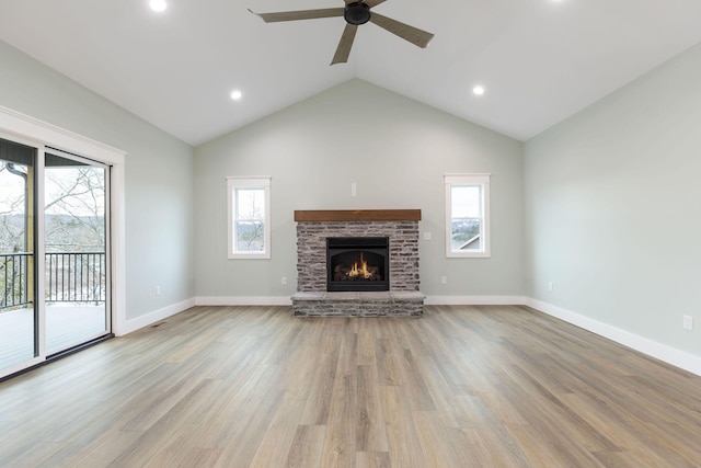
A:
{"label": "whole small window with white trim, right of the fireplace", "polygon": [[446,256],[490,256],[490,174],[446,174]]}

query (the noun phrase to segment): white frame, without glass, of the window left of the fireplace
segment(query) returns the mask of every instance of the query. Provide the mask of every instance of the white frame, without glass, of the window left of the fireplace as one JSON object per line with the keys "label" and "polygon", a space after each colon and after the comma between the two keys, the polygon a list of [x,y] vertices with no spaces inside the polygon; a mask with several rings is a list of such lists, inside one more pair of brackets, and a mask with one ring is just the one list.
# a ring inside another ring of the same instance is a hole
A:
{"label": "white frame, without glass, of the window left of the fireplace", "polygon": [[[264,233],[263,233],[263,250],[260,252],[242,252],[235,250],[235,243],[233,242],[234,232],[234,207],[233,203],[234,194],[238,189],[263,189],[265,194],[265,220],[264,220]],[[257,176],[257,178],[227,178],[227,212],[228,212],[228,231],[229,231],[229,246],[227,251],[229,252],[229,259],[269,259],[271,258],[271,178]]]}

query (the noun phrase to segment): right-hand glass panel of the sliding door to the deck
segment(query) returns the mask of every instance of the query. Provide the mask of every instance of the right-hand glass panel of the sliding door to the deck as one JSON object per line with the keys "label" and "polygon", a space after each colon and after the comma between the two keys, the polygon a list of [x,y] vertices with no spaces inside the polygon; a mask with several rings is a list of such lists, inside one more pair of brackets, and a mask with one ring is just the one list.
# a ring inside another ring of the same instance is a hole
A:
{"label": "right-hand glass panel of the sliding door to the deck", "polygon": [[110,332],[107,174],[107,168],[85,159],[55,150],[45,155],[47,355]]}

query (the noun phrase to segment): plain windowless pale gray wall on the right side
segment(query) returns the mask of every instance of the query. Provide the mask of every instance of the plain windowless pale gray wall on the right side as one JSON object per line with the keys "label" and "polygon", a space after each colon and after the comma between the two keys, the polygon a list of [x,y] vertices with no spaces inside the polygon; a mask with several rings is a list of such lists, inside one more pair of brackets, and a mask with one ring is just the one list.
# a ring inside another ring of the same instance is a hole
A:
{"label": "plain windowless pale gray wall on the right side", "polygon": [[696,355],[699,83],[701,45],[525,145],[529,295]]}

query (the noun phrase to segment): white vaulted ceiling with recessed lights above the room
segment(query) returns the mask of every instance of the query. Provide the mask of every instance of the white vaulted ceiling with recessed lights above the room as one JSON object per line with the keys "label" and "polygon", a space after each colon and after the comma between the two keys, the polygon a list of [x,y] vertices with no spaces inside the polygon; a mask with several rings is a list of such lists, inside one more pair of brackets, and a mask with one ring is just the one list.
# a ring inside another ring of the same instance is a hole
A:
{"label": "white vaulted ceiling with recessed lights above the room", "polygon": [[353,78],[527,140],[701,42],[699,0],[388,0],[374,10],[429,47],[368,23],[331,67],[342,18],[246,9],[343,0],[168,2],[0,0],[0,39],[193,146]]}

